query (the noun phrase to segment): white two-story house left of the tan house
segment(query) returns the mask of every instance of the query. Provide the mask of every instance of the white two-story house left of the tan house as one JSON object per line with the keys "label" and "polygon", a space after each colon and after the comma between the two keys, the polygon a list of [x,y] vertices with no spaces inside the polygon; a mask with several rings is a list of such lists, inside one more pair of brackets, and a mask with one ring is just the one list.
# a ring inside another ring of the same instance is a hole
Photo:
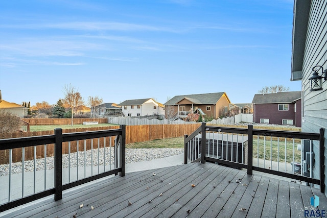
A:
{"label": "white two-story house left of the tan house", "polygon": [[165,106],[153,99],[126,100],[118,106],[125,116],[165,115]]}

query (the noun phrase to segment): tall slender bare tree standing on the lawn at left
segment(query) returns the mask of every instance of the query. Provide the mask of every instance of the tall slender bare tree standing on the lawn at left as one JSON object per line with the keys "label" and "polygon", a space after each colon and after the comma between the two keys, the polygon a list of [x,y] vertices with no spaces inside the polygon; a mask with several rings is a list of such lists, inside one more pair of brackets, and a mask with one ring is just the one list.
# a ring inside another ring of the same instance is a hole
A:
{"label": "tall slender bare tree standing on the lawn at left", "polygon": [[72,84],[65,85],[63,88],[63,93],[65,95],[64,104],[66,104],[72,111],[72,126],[73,126],[73,118],[76,109],[84,104],[84,100],[81,94],[78,92]]}

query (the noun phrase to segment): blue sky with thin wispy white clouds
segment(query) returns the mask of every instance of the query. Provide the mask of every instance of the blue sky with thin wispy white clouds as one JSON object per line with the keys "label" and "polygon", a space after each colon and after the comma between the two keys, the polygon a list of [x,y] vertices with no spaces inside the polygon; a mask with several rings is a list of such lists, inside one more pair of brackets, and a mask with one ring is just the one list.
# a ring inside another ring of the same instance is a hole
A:
{"label": "blue sky with thin wispy white clouds", "polygon": [[290,82],[292,0],[0,1],[0,89],[8,102],[226,92],[251,103]]}

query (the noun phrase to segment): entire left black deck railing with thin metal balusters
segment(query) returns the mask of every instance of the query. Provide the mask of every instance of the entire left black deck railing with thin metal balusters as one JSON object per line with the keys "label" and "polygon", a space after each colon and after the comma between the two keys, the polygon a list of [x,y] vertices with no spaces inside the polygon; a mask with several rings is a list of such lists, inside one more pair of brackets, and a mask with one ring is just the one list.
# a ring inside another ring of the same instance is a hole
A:
{"label": "entire left black deck railing with thin metal balusters", "polygon": [[[54,135],[0,139],[0,150],[9,150],[8,175],[0,175],[0,212],[53,194],[56,201],[60,200],[63,190],[105,176],[118,173],[125,176],[125,138],[126,127],[122,125],[119,129],[111,130],[62,134],[62,129],[55,129]],[[86,140],[91,140],[90,154],[86,151]],[[67,162],[63,162],[63,142],[68,142],[69,152],[65,154]],[[51,144],[55,146],[54,157],[46,153]],[[97,144],[97,149],[94,149],[94,144]],[[25,151],[30,150],[28,147],[34,151],[32,172],[26,172],[26,165],[30,163],[25,160]],[[40,159],[36,158],[36,150],[39,151],[40,147],[44,152],[41,164]],[[12,150],[19,148],[22,149],[22,160],[18,164],[21,173],[13,173],[17,170],[17,163],[12,162]],[[73,148],[75,153],[71,153]],[[103,161],[100,161],[100,153]],[[72,167],[74,158],[75,166]],[[86,163],[87,159],[89,164]],[[63,165],[67,165],[67,168]],[[39,167],[43,167],[43,170],[40,171]],[[32,186],[32,190],[28,190],[28,186]]]}

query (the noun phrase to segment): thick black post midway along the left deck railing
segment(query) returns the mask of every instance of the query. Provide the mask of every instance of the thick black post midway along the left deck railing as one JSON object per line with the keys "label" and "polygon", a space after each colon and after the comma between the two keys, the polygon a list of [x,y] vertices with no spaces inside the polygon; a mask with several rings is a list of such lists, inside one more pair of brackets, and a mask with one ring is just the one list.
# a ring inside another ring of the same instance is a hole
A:
{"label": "thick black post midway along the left deck railing", "polygon": [[62,199],[62,129],[55,129],[55,201]]}

